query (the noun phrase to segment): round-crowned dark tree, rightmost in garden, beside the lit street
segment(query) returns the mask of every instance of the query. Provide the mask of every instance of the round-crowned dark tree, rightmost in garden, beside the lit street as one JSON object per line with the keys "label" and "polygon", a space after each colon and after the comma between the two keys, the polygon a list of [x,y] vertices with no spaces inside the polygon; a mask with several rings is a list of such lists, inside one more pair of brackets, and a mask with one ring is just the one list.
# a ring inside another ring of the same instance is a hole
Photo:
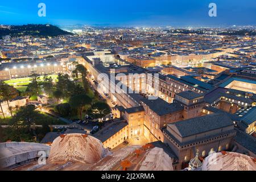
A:
{"label": "round-crowned dark tree, rightmost in garden, beside the lit street", "polygon": [[106,102],[96,102],[92,105],[92,108],[89,110],[89,113],[94,118],[102,118],[105,117],[105,115],[109,114],[111,112],[110,107]]}

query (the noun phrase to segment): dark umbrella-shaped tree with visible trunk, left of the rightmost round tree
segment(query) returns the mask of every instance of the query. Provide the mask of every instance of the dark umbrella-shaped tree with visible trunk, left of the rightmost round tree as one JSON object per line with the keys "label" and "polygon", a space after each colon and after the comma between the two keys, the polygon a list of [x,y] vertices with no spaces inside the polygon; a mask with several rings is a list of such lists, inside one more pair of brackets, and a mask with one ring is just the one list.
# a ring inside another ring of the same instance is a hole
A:
{"label": "dark umbrella-shaped tree with visible trunk, left of the rightmost round tree", "polygon": [[82,120],[82,111],[85,109],[85,105],[90,105],[91,103],[92,99],[85,94],[72,96],[69,100],[71,107],[79,111],[80,120]]}

